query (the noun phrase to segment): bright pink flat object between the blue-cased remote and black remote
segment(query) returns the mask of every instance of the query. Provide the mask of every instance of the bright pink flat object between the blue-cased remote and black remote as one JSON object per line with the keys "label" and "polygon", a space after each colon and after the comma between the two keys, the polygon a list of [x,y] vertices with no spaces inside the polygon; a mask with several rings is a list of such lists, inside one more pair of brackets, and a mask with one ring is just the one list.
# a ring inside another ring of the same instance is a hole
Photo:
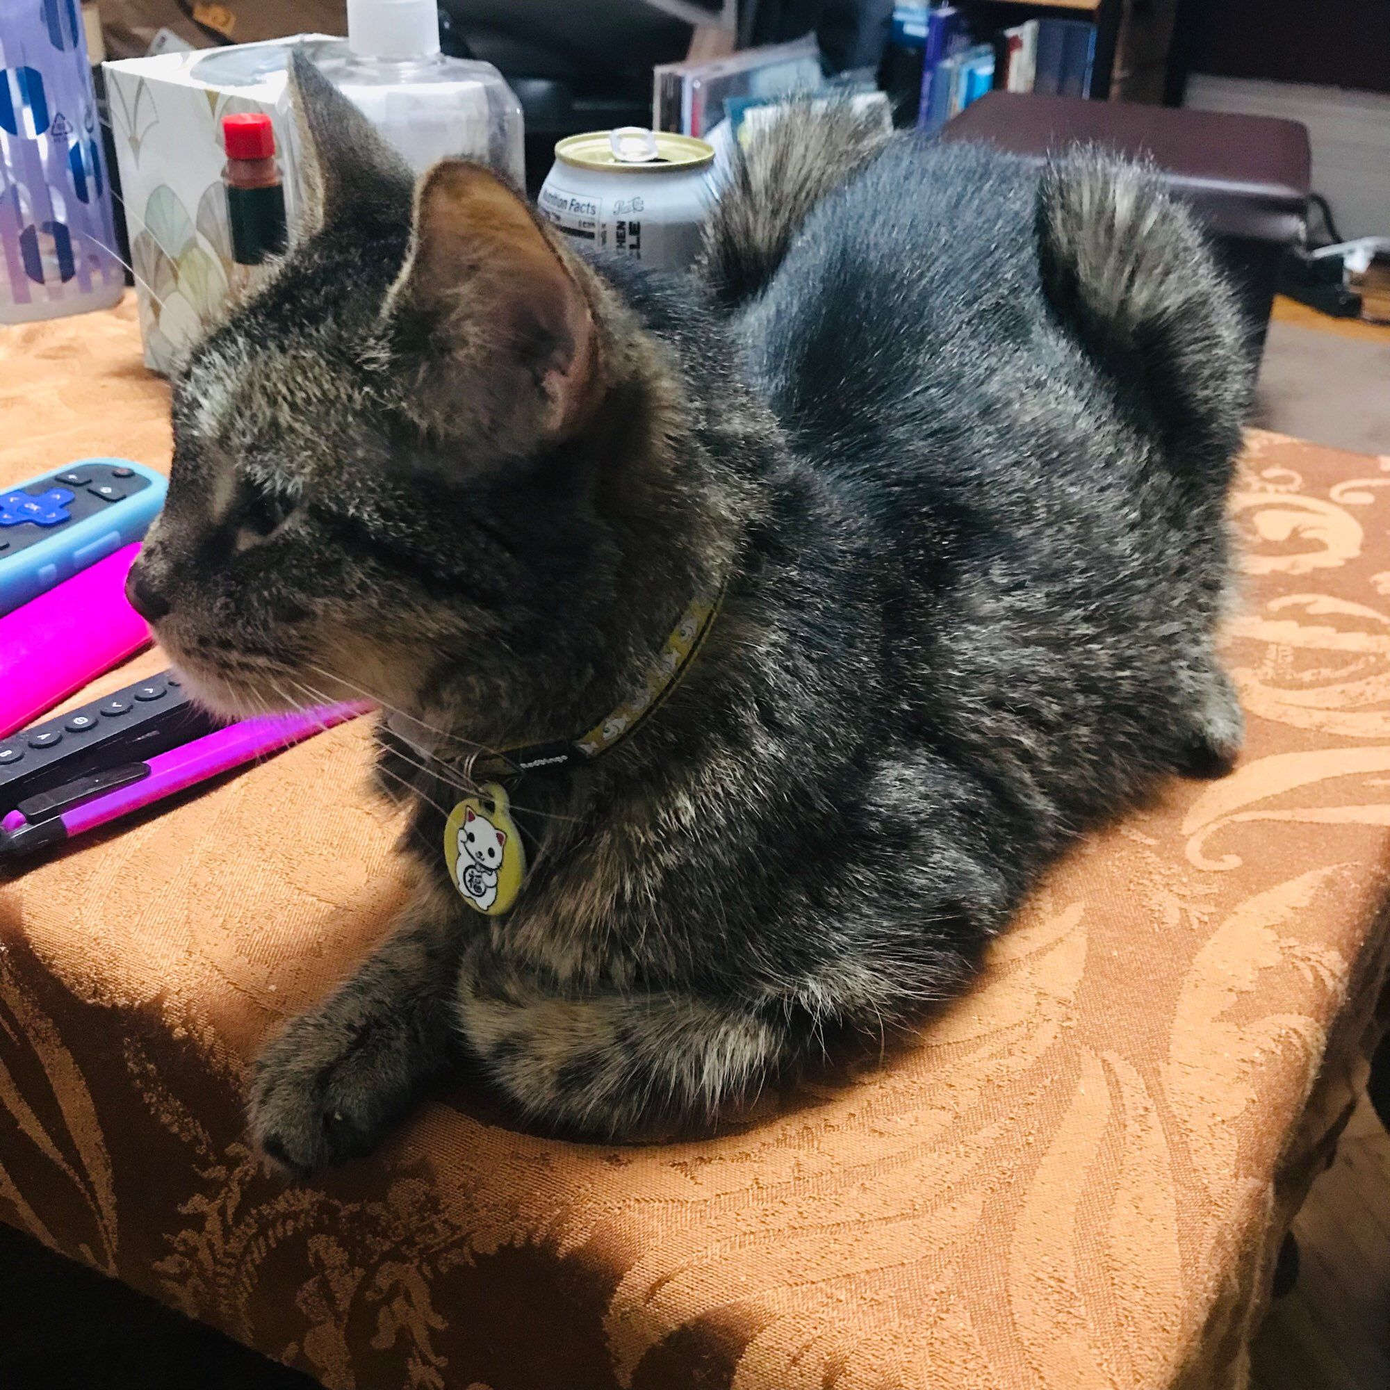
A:
{"label": "bright pink flat object between the blue-cased remote and black remote", "polygon": [[0,738],[149,645],[125,598],[139,553],[128,545],[0,617]]}

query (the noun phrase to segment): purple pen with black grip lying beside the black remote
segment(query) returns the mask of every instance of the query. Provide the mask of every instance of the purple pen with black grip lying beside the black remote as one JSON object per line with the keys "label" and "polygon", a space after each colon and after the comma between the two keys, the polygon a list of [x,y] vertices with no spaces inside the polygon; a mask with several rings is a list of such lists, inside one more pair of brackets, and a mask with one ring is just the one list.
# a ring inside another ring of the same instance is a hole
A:
{"label": "purple pen with black grip lying beside the black remote", "polygon": [[249,719],[147,762],[111,767],[35,796],[0,820],[0,862],[61,844],[370,709],[370,703],[354,702]]}

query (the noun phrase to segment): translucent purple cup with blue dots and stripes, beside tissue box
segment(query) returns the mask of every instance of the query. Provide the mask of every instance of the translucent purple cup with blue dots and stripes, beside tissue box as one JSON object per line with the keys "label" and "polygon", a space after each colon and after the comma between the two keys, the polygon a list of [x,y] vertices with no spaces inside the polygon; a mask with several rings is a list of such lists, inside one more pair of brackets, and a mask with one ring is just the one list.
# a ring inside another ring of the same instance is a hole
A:
{"label": "translucent purple cup with blue dots and stripes, beside tissue box", "polygon": [[125,289],[78,0],[0,0],[0,322]]}

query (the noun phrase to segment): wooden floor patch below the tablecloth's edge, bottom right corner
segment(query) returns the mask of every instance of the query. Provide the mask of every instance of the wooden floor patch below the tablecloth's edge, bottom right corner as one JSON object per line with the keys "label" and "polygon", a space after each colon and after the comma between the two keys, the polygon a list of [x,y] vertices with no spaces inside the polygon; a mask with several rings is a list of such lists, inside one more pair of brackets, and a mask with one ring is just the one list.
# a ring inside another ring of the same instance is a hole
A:
{"label": "wooden floor patch below the tablecloth's edge, bottom right corner", "polygon": [[1294,1223],[1300,1272],[1255,1344],[1251,1390],[1390,1387],[1390,1136],[1368,1102]]}

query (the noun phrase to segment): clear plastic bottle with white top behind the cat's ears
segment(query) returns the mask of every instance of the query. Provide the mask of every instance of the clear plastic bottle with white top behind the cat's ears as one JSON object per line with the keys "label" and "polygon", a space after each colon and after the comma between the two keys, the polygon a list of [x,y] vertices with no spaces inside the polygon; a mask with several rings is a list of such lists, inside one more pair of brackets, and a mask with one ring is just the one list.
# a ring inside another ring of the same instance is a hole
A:
{"label": "clear plastic bottle with white top behind the cat's ears", "polygon": [[521,103],[491,63],[439,51],[435,0],[348,0],[346,50],[318,65],[417,174],[467,154],[524,182]]}

